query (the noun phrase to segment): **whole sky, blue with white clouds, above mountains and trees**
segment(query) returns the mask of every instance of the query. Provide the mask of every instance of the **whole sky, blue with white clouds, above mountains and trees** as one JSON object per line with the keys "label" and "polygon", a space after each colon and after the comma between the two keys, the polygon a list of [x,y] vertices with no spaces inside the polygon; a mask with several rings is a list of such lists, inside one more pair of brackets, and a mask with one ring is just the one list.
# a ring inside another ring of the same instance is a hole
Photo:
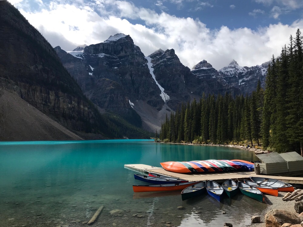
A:
{"label": "whole sky, blue with white clouds, above mountains and trees", "polygon": [[8,0],[53,47],[130,35],[147,56],[175,49],[192,68],[260,65],[303,29],[302,0]]}

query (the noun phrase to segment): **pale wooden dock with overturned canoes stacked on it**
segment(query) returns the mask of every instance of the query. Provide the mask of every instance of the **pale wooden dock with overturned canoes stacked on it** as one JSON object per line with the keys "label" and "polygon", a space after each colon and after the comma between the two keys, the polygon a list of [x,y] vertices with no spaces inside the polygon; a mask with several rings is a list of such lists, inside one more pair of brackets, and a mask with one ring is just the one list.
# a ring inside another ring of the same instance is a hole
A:
{"label": "pale wooden dock with overturned canoes stacked on it", "polygon": [[132,164],[132,165],[124,165],[125,168],[135,170],[137,172],[152,172],[158,173],[161,175],[166,175],[170,177],[176,177],[188,181],[208,181],[213,180],[218,183],[222,183],[227,179],[248,179],[249,177],[265,177],[265,178],[273,178],[277,180],[281,180],[286,183],[290,184],[302,184],[303,185],[303,178],[302,177],[285,177],[285,176],[271,176],[271,175],[257,175],[255,172],[222,172],[222,173],[199,173],[199,174],[183,174],[183,173],[174,173],[166,171],[161,167],[155,167],[150,165],[143,165],[143,164]]}

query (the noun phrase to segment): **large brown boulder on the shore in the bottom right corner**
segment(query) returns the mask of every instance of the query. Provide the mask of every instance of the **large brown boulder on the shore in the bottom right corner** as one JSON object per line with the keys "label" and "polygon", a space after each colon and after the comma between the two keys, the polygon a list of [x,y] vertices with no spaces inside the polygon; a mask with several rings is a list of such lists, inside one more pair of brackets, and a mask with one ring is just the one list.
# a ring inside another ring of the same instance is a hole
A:
{"label": "large brown boulder on the shore in the bottom right corner", "polygon": [[295,225],[301,222],[301,219],[298,218],[295,213],[289,212],[287,210],[273,209],[265,215],[266,227],[280,227],[284,223]]}

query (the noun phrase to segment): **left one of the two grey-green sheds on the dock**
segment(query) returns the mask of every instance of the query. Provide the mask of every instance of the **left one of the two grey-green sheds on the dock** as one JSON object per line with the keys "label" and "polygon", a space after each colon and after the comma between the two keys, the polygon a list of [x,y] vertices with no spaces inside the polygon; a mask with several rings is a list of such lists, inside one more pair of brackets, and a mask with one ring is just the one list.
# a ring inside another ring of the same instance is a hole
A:
{"label": "left one of the two grey-green sheds on the dock", "polygon": [[260,165],[261,174],[287,173],[287,162],[276,152],[256,155],[262,162],[255,163]]}

